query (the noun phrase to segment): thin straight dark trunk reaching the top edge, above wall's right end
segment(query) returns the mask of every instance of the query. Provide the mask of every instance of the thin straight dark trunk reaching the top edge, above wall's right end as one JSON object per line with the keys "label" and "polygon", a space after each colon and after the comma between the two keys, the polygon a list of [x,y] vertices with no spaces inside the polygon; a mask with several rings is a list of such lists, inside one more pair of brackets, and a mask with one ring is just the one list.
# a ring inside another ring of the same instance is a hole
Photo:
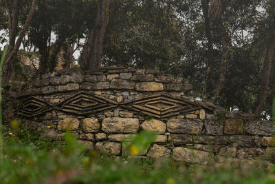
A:
{"label": "thin straight dark trunk reaching the top edge, above wall's right end", "polygon": [[204,26],[206,29],[206,38],[208,39],[208,81],[209,89],[212,90],[215,84],[214,76],[214,55],[213,55],[213,39],[211,35],[210,19],[208,14],[209,0],[202,0],[201,6],[203,10]]}

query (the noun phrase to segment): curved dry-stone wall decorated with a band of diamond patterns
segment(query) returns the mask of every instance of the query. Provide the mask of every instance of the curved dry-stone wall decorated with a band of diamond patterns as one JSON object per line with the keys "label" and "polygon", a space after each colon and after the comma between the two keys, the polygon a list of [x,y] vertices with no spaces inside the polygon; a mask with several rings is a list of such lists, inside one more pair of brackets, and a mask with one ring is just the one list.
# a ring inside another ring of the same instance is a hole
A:
{"label": "curved dry-stone wall decorated with a band of diamond patterns", "polygon": [[68,128],[85,143],[122,155],[123,139],[141,130],[158,133],[142,156],[172,157],[205,165],[232,156],[251,160],[274,152],[274,125],[249,114],[225,112],[187,97],[192,85],[157,70],[105,68],[85,74],[45,74],[23,85],[17,99],[21,121],[60,139]]}

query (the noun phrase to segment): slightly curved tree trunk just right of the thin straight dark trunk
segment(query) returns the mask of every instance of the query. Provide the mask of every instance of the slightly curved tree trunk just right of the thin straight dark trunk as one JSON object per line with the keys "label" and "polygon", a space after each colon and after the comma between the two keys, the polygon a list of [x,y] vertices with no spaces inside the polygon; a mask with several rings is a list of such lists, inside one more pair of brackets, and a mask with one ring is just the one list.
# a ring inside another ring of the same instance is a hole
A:
{"label": "slightly curved tree trunk just right of the thin straight dark trunk", "polygon": [[220,21],[218,27],[219,38],[221,39],[221,63],[219,64],[219,79],[217,80],[216,85],[214,85],[214,89],[212,92],[212,102],[215,102],[221,90],[223,90],[223,85],[225,83],[225,74],[228,68],[228,54],[229,54],[229,45],[230,45],[230,37],[228,36],[228,32],[226,32],[223,23]]}

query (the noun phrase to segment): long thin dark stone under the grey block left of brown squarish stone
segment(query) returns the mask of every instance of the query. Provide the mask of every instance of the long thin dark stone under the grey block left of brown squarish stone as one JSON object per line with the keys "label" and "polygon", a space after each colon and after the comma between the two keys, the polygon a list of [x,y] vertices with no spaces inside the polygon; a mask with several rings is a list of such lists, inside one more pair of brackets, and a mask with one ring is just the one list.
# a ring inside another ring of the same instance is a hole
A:
{"label": "long thin dark stone under the grey block left of brown squarish stone", "polygon": [[211,144],[211,145],[226,145],[230,143],[227,136],[194,136],[194,143]]}

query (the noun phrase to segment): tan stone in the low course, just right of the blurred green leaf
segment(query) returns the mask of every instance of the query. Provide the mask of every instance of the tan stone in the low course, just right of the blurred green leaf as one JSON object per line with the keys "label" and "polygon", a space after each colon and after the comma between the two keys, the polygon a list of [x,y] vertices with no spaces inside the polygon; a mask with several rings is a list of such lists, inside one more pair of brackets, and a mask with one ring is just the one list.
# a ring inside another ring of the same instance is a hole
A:
{"label": "tan stone in the low course, just right of the blurred green leaf", "polygon": [[147,156],[153,159],[168,159],[170,157],[171,150],[162,145],[154,144],[148,151]]}

